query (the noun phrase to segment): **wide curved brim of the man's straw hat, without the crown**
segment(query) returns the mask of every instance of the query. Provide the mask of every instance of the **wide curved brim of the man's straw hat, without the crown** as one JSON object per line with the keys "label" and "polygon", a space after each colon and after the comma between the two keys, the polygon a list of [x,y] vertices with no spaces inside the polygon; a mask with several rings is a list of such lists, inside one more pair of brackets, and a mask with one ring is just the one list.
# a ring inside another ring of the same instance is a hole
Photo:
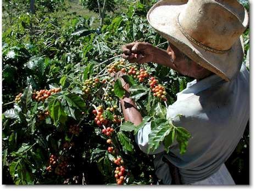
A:
{"label": "wide curved brim of the man's straw hat, without the crown", "polygon": [[187,1],[161,1],[148,11],[147,20],[155,30],[176,48],[207,70],[222,79],[231,80],[240,71],[243,61],[243,42],[238,38],[224,54],[207,51],[188,40],[180,31],[177,18],[185,9]]}

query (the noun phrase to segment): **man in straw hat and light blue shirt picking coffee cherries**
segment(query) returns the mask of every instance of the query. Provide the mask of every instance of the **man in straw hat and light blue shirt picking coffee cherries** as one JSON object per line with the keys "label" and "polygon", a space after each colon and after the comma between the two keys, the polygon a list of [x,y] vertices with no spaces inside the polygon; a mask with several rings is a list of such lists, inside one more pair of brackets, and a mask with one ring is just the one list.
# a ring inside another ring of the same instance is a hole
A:
{"label": "man in straw hat and light blue shirt picking coffee cherries", "polygon": [[[147,20],[169,42],[162,50],[149,43],[123,46],[130,62],[155,62],[195,78],[177,94],[167,118],[187,129],[192,138],[187,152],[179,153],[174,142],[170,153],[163,144],[155,155],[156,174],[171,184],[168,164],[179,168],[182,184],[235,184],[225,161],[237,146],[249,119],[249,73],[242,65],[241,34],[248,15],[235,0],[160,1],[148,11]],[[129,85],[124,88],[129,91]],[[142,121],[135,103],[121,99],[125,120]],[[175,118],[177,114],[183,117]],[[138,146],[147,151],[150,123],[136,135]]]}

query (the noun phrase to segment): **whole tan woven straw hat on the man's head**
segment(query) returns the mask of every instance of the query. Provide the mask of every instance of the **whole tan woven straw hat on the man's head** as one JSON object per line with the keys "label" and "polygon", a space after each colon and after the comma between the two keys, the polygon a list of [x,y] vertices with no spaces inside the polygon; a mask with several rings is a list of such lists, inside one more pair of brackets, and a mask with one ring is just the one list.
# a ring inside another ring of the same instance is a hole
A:
{"label": "whole tan woven straw hat on the man's head", "polygon": [[199,65],[229,81],[243,61],[241,34],[246,9],[236,0],[160,1],[147,20],[164,38]]}

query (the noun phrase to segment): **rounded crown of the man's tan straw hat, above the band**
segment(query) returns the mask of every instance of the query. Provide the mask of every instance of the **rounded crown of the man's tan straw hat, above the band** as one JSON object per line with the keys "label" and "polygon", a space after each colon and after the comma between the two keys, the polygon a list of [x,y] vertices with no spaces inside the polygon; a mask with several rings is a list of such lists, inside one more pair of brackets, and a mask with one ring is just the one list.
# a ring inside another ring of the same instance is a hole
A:
{"label": "rounded crown of the man's tan straw hat, above the band", "polygon": [[225,51],[246,30],[248,18],[244,18],[244,8],[236,0],[190,0],[178,22],[187,37]]}

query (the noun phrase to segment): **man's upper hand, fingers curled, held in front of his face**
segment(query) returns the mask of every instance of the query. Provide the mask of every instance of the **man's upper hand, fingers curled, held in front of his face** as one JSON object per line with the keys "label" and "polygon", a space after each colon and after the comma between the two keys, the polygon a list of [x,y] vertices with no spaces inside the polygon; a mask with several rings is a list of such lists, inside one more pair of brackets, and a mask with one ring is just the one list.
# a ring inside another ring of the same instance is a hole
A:
{"label": "man's upper hand, fingers curled, held in front of his face", "polygon": [[123,58],[129,62],[146,63],[154,59],[154,49],[152,44],[145,42],[134,42],[123,45]]}

